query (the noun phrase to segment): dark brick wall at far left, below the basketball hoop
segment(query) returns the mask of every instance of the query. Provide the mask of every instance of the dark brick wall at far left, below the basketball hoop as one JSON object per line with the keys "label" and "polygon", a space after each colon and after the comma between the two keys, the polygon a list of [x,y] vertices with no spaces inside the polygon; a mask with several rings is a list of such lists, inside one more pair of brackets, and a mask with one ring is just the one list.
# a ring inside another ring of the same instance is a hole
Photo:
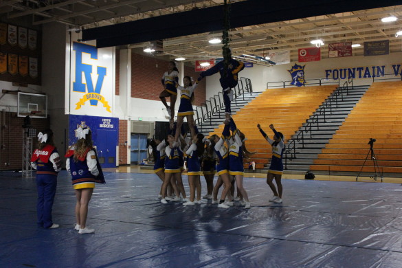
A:
{"label": "dark brick wall at far left, below the basketball hoop", "polygon": [[[5,114],[4,114],[5,113]],[[16,117],[16,113],[1,112],[0,135],[0,170],[22,169],[22,135],[23,119]],[[5,122],[3,122],[5,118]],[[32,127],[36,129],[36,135],[49,128],[49,118],[32,118]],[[36,148],[38,139],[33,138],[33,149]],[[8,163],[5,165],[5,163]]]}

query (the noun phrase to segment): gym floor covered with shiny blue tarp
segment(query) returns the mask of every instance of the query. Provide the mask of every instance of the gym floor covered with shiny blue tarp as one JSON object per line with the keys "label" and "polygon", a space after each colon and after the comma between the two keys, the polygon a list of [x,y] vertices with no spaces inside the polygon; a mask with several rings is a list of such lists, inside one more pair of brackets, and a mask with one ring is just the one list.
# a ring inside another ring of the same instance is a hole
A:
{"label": "gym floor covered with shiny blue tarp", "polygon": [[[35,179],[0,172],[0,267],[402,267],[401,183],[286,175],[277,204],[268,201],[265,175],[247,173],[245,210],[206,199],[164,205],[152,170],[109,171],[89,203],[95,234],[73,228],[66,171],[58,175],[54,230],[36,227]],[[189,192],[186,175],[183,182]]]}

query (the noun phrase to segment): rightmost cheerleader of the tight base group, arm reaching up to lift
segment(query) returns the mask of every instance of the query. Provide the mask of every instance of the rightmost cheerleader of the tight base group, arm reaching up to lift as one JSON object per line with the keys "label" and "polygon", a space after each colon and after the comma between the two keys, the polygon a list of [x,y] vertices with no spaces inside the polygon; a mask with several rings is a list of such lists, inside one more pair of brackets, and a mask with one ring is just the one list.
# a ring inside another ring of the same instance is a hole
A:
{"label": "rightmost cheerleader of the tight base group, arm reaching up to lift", "polygon": [[[227,115],[227,118],[230,118],[230,116]],[[234,176],[236,179],[237,189],[245,200],[245,203],[242,204],[245,205],[245,208],[251,208],[249,197],[245,188],[243,187],[243,155],[248,158],[250,155],[252,155],[252,153],[250,153],[245,147],[245,135],[236,128],[233,118],[230,118],[230,130],[232,131],[233,141],[229,149],[229,174]]]}

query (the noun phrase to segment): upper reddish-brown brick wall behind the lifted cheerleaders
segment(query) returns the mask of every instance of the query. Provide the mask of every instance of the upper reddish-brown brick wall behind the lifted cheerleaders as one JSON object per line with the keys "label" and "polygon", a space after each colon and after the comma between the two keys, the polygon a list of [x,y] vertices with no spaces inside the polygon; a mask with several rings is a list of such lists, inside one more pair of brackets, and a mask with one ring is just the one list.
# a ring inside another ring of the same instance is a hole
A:
{"label": "upper reddish-brown brick wall behind the lifted cheerleaders", "polygon": [[[168,61],[142,56],[131,55],[131,97],[146,100],[159,100],[159,94],[164,90],[161,78],[168,69]],[[185,67],[185,76],[196,80],[199,72],[194,67]],[[183,85],[183,81],[179,81]],[[195,94],[195,105],[205,101],[205,79],[201,80]],[[169,100],[169,99],[168,99]],[[179,108],[179,107],[177,107]]]}

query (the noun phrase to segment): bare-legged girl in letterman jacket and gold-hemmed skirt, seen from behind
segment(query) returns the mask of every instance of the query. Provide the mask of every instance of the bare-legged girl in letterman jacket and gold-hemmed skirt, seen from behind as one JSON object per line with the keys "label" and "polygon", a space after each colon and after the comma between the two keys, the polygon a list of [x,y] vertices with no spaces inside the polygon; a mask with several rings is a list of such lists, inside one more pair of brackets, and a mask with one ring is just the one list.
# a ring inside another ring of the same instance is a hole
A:
{"label": "bare-legged girl in letterman jacket and gold-hemmed skirt, seen from behind", "polygon": [[95,183],[105,183],[102,169],[92,145],[89,128],[77,129],[78,141],[71,146],[65,157],[66,169],[72,176],[73,188],[76,192],[75,229],[78,234],[90,234],[95,230],[87,227],[88,204],[91,200]]}

